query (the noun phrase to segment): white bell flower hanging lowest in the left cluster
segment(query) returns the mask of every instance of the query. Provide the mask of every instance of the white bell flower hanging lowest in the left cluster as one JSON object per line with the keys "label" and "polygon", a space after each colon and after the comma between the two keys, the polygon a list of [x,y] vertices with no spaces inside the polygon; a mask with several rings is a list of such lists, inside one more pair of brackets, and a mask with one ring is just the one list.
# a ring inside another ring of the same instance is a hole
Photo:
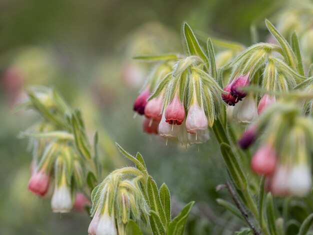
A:
{"label": "white bell flower hanging lowest in the left cluster", "polygon": [[65,213],[71,210],[72,200],[70,188],[66,183],[62,183],[59,187],[55,185],[51,199],[51,207],[53,212]]}

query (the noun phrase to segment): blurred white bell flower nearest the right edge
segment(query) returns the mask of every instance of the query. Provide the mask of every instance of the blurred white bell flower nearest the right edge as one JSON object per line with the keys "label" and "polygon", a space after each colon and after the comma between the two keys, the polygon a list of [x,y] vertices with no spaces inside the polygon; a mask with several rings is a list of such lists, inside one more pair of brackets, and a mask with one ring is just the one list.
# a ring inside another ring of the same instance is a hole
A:
{"label": "blurred white bell flower nearest the right edge", "polygon": [[307,164],[292,166],[288,176],[288,189],[294,196],[305,196],[312,188],[311,170]]}

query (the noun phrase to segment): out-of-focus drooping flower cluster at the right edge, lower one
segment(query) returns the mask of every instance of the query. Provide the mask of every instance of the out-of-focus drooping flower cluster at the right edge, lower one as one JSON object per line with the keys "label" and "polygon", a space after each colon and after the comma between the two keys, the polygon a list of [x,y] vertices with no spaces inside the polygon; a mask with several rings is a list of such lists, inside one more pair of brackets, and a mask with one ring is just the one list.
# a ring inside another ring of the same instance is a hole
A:
{"label": "out-of-focus drooping flower cluster at the right edge, lower one", "polygon": [[277,102],[247,128],[238,143],[246,148],[258,136],[251,168],[266,176],[266,189],[276,195],[306,195],[312,186],[312,118],[303,116],[296,103]]}

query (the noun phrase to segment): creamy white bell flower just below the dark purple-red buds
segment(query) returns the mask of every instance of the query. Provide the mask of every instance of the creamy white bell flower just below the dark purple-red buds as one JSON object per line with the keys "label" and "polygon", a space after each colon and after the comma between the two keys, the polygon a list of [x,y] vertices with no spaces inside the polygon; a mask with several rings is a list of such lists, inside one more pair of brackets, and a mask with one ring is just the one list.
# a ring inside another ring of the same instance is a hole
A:
{"label": "creamy white bell flower just below the dark purple-red buds", "polygon": [[233,117],[241,124],[251,123],[257,118],[256,102],[252,94],[249,94],[234,107]]}

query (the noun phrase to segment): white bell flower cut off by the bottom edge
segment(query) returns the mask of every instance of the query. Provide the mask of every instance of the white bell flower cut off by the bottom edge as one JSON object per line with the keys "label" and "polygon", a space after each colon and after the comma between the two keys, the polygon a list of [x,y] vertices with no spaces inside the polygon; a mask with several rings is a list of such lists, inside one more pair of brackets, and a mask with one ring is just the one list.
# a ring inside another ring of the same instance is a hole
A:
{"label": "white bell flower cut off by the bottom edge", "polygon": [[96,235],[117,235],[114,210],[112,209],[111,214],[109,214],[106,205],[103,212],[99,214]]}

